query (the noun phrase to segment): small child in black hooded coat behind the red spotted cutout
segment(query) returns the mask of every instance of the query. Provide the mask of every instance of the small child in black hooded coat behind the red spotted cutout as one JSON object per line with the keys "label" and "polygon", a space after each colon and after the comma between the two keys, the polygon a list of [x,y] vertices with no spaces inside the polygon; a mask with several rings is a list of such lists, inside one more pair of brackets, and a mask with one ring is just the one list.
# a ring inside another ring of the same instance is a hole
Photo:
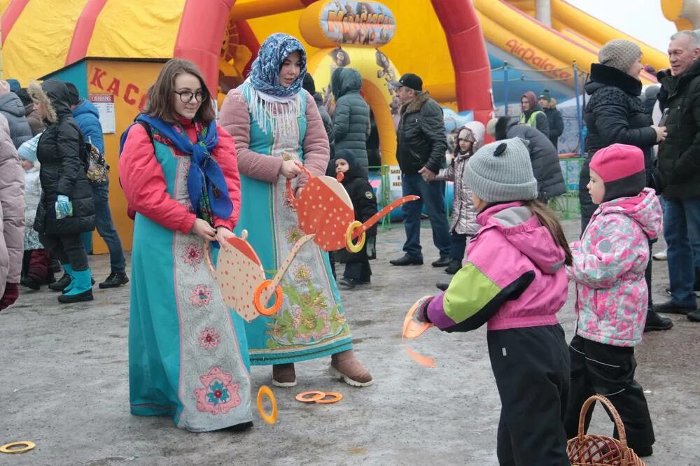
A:
{"label": "small child in black hooded coat behind the red spotted cutout", "polygon": [[[335,153],[335,171],[343,174],[342,185],[347,191],[355,209],[355,220],[365,223],[377,213],[377,196],[370,181],[367,180],[367,171],[358,164],[355,155],[349,149],[339,149]],[[357,253],[349,253],[345,249],[337,250],[333,254],[337,262],[345,262],[345,271],[339,278],[338,285],[346,290],[351,290],[357,285],[370,283],[372,269],[370,259],[377,257],[375,239],[377,225],[367,230],[365,244]]]}

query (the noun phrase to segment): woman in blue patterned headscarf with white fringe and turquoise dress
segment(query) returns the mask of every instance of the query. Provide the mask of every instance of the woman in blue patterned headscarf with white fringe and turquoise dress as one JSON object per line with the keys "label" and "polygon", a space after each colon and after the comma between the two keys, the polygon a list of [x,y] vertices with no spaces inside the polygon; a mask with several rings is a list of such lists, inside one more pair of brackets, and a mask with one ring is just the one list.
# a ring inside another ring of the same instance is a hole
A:
{"label": "woman in blue patterned headscarf with white fringe and turquoise dress", "polygon": [[[285,182],[300,192],[312,175],[328,167],[328,137],[314,98],[302,89],[307,72],[303,45],[286,34],[262,43],[251,75],[228,93],[221,125],[236,141],[241,190],[240,229],[274,275],[303,235],[286,197]],[[331,356],[330,373],[352,386],[367,386],[372,376],[352,350],[352,338],[332,278],[328,254],[307,243],[282,282],[283,304],[276,314],[246,326],[252,365],[272,365],[275,386],[296,385],[294,363]]]}

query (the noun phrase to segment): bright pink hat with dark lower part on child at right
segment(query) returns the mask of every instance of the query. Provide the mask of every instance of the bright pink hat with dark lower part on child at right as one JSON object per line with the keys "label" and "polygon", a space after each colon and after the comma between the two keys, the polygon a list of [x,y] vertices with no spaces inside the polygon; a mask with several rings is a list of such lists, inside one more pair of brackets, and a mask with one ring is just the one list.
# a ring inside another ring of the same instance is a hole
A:
{"label": "bright pink hat with dark lower part on child at right", "polygon": [[612,144],[598,150],[589,164],[605,183],[603,202],[638,195],[646,185],[644,153],[635,146]]}

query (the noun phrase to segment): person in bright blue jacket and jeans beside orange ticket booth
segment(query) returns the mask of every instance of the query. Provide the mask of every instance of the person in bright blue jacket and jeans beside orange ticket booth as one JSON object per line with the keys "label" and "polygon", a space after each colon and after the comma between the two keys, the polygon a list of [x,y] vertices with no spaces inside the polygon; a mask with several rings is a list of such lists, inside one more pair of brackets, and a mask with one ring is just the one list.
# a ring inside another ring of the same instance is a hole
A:
{"label": "person in bright blue jacket and jeans beside orange ticket booth", "polygon": [[[80,99],[78,89],[73,83],[66,83],[70,94],[71,111],[78,123],[83,139],[91,143],[104,155],[104,136],[102,124],[99,122],[99,111],[92,102]],[[94,223],[99,236],[102,236],[109,249],[111,272],[107,279],[99,284],[99,288],[115,288],[129,282],[126,274],[126,259],[122,241],[114,227],[112,213],[109,209],[109,179],[104,183],[90,183],[94,199]],[[92,234],[90,232],[89,234]]]}

